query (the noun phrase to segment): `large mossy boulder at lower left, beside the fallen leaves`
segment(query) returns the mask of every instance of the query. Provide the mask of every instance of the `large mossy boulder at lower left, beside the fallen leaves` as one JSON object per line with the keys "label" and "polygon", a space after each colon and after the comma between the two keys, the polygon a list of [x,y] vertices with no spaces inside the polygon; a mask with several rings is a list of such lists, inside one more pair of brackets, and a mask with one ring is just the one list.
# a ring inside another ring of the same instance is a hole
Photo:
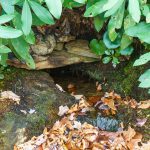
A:
{"label": "large mossy boulder at lower left, beside the fallen leaves", "polygon": [[69,107],[75,102],[72,96],[56,88],[49,74],[11,70],[0,81],[0,90],[11,90],[21,100],[19,105],[0,101],[0,150],[12,150],[15,143],[40,135],[46,125],[51,127],[58,119],[59,106]]}

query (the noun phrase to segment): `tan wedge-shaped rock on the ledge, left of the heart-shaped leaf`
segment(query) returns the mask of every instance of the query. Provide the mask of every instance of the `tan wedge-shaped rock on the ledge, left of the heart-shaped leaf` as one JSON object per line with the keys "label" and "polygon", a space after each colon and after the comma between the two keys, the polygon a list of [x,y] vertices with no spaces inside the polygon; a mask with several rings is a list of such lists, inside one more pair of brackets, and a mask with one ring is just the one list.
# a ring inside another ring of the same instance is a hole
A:
{"label": "tan wedge-shaped rock on the ledge, left of the heart-shaped leaf", "polygon": [[69,53],[77,54],[80,56],[99,58],[89,48],[89,42],[86,40],[75,40],[67,43],[65,48]]}

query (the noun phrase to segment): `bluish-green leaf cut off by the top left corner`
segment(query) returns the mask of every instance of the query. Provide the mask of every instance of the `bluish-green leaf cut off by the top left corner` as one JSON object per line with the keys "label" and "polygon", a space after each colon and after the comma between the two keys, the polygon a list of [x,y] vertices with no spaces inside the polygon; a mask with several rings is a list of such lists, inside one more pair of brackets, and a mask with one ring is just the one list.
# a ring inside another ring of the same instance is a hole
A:
{"label": "bluish-green leaf cut off by the top left corner", "polygon": [[0,0],[0,3],[7,14],[14,13],[13,0]]}

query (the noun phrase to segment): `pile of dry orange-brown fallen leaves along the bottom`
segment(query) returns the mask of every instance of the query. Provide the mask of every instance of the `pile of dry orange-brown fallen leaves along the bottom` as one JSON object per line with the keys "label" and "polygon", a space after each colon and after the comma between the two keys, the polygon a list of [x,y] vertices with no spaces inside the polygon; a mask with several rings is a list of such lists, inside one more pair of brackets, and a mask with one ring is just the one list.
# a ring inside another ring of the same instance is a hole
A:
{"label": "pile of dry orange-brown fallen leaves along the bottom", "polygon": [[[117,111],[116,101],[121,97],[114,92],[106,93],[101,98],[100,105],[107,105],[114,112]],[[131,104],[132,101],[125,101]],[[147,109],[150,101],[136,103],[135,107]],[[135,104],[134,104],[135,105]],[[132,106],[132,105],[131,105]],[[70,109],[60,106],[59,115],[63,116],[48,130],[45,128],[39,137],[15,145],[14,150],[149,150],[150,141],[142,143],[142,134],[129,126],[127,131],[107,132],[88,123],[76,121],[78,115],[90,110],[91,105],[83,98]]]}

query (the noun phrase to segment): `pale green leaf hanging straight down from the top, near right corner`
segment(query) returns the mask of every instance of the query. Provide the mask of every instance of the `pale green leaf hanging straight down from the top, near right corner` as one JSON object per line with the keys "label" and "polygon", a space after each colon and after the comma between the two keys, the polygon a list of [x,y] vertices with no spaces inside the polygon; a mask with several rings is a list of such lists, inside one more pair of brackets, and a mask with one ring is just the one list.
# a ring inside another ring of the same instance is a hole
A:
{"label": "pale green leaf hanging straight down from the top, near right corner", "polygon": [[141,18],[141,11],[139,0],[129,0],[129,13],[132,16],[133,20],[139,23]]}

